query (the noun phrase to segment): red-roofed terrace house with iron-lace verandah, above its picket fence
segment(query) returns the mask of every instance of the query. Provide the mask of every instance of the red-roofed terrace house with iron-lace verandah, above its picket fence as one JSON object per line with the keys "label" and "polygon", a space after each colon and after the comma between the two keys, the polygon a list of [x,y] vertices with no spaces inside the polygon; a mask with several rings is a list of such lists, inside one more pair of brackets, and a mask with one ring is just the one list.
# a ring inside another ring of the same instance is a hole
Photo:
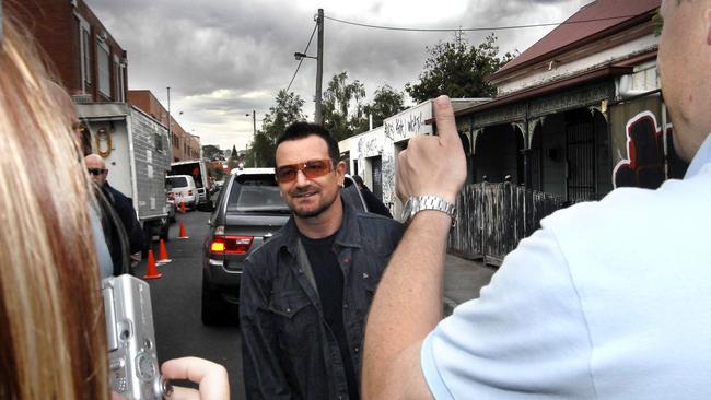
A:
{"label": "red-roofed terrace house with iron-lace verandah, above its picket fence", "polygon": [[684,172],[656,73],[660,0],[597,0],[489,77],[497,98],[456,113],[470,183],[567,202]]}

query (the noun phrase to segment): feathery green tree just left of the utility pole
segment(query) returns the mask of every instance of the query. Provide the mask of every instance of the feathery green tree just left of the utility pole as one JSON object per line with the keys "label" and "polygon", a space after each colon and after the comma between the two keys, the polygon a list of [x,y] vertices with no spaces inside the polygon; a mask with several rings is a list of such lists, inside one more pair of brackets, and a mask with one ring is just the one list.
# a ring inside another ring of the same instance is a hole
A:
{"label": "feathery green tree just left of the utility pole", "polygon": [[291,123],[306,120],[303,113],[304,101],[298,94],[281,90],[275,103],[261,120],[261,130],[257,131],[252,141],[252,146],[245,156],[245,166],[273,167],[279,136]]}

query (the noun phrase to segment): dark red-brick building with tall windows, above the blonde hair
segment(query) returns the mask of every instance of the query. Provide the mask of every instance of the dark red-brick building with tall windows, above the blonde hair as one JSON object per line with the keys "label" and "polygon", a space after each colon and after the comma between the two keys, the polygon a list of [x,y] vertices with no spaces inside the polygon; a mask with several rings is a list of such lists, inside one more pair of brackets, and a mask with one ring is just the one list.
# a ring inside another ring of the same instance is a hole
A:
{"label": "dark red-brick building with tall windows, above the blonde hair", "polygon": [[16,9],[74,102],[126,102],[126,51],[83,0],[32,0]]}

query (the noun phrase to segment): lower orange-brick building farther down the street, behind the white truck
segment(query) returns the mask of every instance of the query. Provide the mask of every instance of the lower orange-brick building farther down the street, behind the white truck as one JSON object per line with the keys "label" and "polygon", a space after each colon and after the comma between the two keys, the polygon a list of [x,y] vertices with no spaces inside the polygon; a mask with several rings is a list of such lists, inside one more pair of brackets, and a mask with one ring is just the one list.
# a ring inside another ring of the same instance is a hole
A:
{"label": "lower orange-brick building farther down the street, behind the white truck", "polygon": [[[167,110],[150,91],[128,91],[128,103],[167,126]],[[173,116],[171,116],[171,143],[174,162],[200,158],[200,137],[186,132]]]}

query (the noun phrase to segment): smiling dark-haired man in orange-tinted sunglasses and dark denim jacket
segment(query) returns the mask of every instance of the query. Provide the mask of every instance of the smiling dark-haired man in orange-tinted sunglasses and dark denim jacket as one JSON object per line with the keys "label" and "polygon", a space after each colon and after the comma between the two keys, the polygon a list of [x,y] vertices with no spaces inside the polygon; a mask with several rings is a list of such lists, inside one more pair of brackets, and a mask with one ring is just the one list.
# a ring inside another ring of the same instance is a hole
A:
{"label": "smiling dark-haired man in orange-tinted sunglasses and dark denim jacket", "polygon": [[318,125],[277,140],[289,222],[246,260],[240,293],[248,399],[358,399],[365,316],[403,226],[340,197],[346,163]]}

